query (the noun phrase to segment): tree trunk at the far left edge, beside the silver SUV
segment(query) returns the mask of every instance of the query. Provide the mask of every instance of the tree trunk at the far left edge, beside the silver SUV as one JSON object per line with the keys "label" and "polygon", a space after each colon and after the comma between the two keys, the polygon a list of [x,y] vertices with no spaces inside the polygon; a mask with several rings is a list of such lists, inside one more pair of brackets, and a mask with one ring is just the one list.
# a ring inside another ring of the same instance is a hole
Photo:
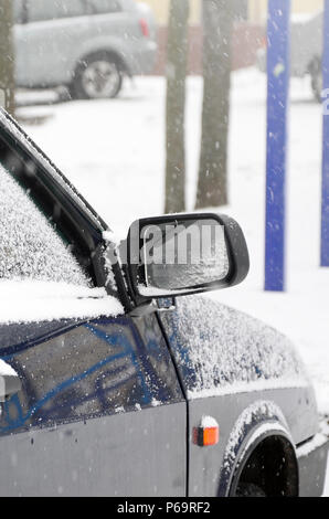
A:
{"label": "tree trunk at the far left edge, beside the silver SUV", "polygon": [[14,114],[12,0],[0,0],[0,105]]}

